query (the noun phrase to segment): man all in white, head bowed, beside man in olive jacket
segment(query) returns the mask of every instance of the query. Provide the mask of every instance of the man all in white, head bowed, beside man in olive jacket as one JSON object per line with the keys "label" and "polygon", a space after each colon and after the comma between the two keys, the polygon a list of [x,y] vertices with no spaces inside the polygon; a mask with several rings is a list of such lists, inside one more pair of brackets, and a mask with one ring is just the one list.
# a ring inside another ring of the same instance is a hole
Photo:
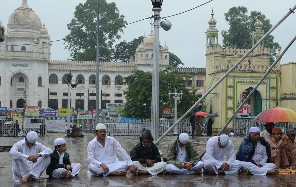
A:
{"label": "man all in white, head bowed, beside man in olive jacket", "polygon": [[[225,153],[229,159],[226,161]],[[232,141],[226,134],[211,137],[207,142],[207,150],[203,156],[204,173],[210,175],[233,175],[241,169],[241,161],[235,159]]]}

